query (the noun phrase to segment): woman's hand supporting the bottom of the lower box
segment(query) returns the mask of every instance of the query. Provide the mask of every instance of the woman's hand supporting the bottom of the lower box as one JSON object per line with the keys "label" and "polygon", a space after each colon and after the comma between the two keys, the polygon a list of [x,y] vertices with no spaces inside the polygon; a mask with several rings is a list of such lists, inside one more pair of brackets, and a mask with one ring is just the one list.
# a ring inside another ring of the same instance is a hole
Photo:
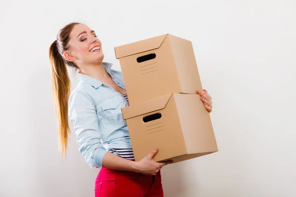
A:
{"label": "woman's hand supporting the bottom of the lower box", "polygon": [[158,148],[155,148],[151,153],[149,153],[145,158],[143,158],[140,162],[136,162],[135,165],[135,171],[142,173],[142,174],[148,174],[148,175],[155,175],[160,168],[167,164],[172,164],[173,161],[169,160],[166,162],[155,162],[153,160],[154,155],[157,153]]}

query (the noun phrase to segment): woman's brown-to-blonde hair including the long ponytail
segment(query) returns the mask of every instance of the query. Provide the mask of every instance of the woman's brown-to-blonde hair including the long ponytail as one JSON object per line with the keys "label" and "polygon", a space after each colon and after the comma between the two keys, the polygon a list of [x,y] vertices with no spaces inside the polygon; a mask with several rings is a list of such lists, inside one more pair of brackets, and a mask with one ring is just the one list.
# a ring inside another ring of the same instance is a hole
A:
{"label": "woman's brown-to-blonde hair including the long ponytail", "polygon": [[68,100],[71,93],[71,82],[67,65],[79,69],[78,66],[64,58],[64,52],[70,50],[70,33],[74,26],[80,23],[70,23],[61,29],[57,39],[49,47],[49,64],[51,67],[52,98],[54,101],[58,123],[59,144],[62,156],[67,157],[68,136]]}

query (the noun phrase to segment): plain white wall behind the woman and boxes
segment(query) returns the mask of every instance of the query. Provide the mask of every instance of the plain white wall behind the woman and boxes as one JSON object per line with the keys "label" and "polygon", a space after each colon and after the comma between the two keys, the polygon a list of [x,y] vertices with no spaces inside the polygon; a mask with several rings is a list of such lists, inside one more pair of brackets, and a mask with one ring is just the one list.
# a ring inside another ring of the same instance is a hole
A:
{"label": "plain white wall behind the woman and boxes", "polygon": [[61,160],[50,92],[49,45],[74,21],[115,69],[114,46],[192,41],[220,151],[164,167],[166,197],[296,196],[295,0],[194,1],[1,1],[0,197],[94,196],[74,132]]}

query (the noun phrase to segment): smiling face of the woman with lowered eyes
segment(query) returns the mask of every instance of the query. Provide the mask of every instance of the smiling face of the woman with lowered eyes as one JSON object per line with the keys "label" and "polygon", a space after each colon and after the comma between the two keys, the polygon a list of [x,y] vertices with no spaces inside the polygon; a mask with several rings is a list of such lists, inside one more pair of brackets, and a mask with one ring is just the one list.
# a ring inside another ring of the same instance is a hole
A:
{"label": "smiling face of the woman with lowered eyes", "polygon": [[84,24],[74,26],[70,33],[69,45],[70,50],[64,53],[64,57],[74,61],[78,66],[98,64],[104,59],[101,40]]}

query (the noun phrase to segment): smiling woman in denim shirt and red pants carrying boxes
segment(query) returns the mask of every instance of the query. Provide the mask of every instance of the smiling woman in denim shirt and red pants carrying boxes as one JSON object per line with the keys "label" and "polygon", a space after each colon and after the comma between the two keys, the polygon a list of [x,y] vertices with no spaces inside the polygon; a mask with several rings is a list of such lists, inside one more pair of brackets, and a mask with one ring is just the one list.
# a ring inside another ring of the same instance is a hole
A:
{"label": "smiling woman in denim shirt and red pants carrying boxes", "polygon": [[[101,168],[95,183],[96,197],[163,197],[160,168],[172,161],[154,162],[157,148],[140,162],[134,161],[120,110],[129,105],[122,73],[111,69],[112,64],[103,59],[102,42],[94,31],[80,23],[61,29],[50,46],[62,154],[67,153],[69,116],[79,152],[91,168]],[[66,65],[76,69],[80,78],[71,94]],[[197,93],[211,112],[211,97],[205,90]]]}

